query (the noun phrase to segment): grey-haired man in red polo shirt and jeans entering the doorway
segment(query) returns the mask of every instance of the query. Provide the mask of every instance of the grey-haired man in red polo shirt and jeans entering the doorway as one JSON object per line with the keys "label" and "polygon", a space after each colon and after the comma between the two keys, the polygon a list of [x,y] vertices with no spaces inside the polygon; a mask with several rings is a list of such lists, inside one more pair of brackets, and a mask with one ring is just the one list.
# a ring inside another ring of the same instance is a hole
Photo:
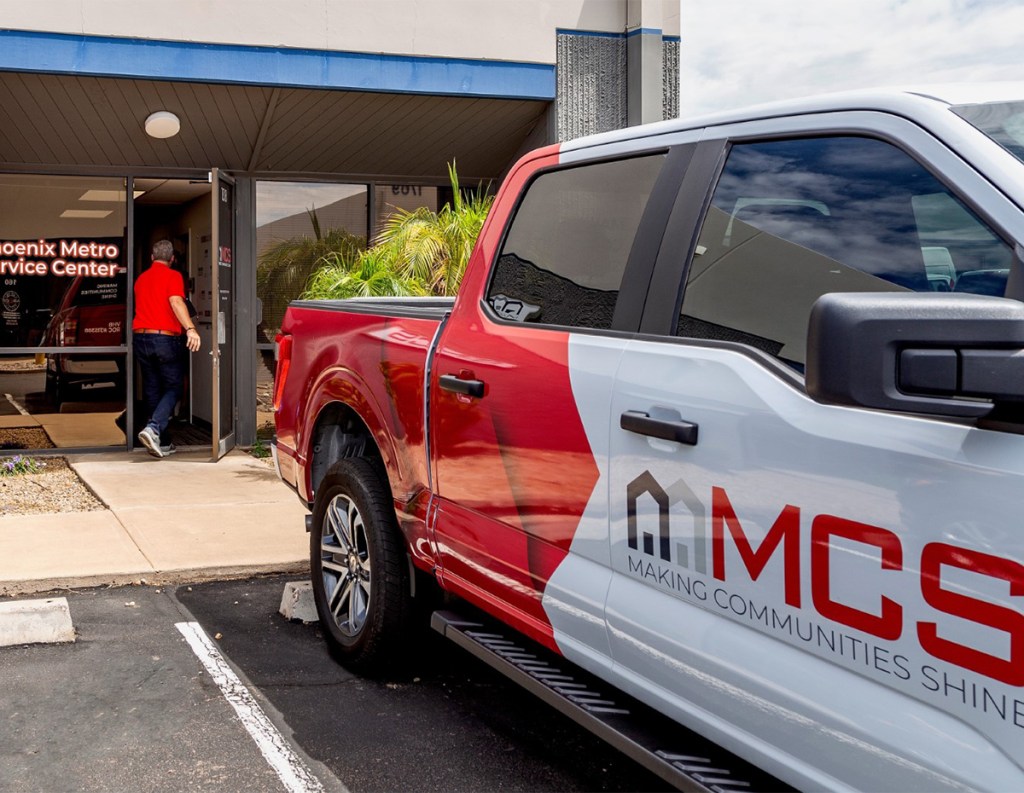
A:
{"label": "grey-haired man in red polo shirt and jeans entering the doorway", "polygon": [[135,280],[132,345],[150,414],[138,440],[154,457],[165,457],[172,451],[167,425],[184,383],[182,333],[189,352],[196,352],[200,344],[185,305],[184,280],[170,266],[173,256],[170,240],[155,243],[153,264]]}

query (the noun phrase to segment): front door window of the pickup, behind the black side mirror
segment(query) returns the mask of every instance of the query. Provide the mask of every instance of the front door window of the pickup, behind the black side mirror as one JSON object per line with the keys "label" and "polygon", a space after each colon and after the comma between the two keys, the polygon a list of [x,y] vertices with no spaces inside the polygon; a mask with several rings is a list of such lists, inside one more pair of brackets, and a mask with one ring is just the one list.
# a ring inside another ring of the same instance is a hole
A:
{"label": "front door window of the pickup, behind the black side mirror", "polygon": [[1013,253],[915,160],[862,137],[733,147],[687,277],[677,335],[802,368],[826,292],[1001,295]]}

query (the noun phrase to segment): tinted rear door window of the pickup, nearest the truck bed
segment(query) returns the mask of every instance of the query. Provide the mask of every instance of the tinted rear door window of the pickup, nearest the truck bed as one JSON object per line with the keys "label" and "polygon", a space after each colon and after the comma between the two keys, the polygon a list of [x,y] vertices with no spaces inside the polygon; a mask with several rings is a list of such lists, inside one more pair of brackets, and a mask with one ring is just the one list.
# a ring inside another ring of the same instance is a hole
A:
{"label": "tinted rear door window of the pickup, nearest the truck bed", "polygon": [[549,171],[529,185],[494,268],[501,318],[610,328],[626,262],[665,155]]}

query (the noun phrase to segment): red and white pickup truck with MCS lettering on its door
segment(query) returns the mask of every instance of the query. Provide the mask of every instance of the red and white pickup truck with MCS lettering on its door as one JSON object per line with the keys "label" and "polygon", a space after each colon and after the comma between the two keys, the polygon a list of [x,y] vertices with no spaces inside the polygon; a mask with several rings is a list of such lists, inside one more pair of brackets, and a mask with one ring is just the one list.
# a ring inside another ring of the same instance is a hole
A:
{"label": "red and white pickup truck with MCS lettering on its door", "polygon": [[333,651],[385,662],[429,583],[680,785],[1024,789],[1022,243],[1021,84],[524,157],[456,300],[289,308]]}

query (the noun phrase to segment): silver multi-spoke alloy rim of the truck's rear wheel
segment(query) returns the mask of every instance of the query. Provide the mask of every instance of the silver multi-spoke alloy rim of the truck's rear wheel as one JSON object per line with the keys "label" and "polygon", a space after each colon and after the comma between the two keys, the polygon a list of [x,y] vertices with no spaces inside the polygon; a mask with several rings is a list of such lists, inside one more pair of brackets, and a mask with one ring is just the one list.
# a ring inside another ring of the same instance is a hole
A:
{"label": "silver multi-spoke alloy rim of the truck's rear wheel", "polygon": [[328,504],[321,569],[331,618],[343,634],[356,636],[366,624],[373,588],[367,527],[348,496],[335,496]]}

